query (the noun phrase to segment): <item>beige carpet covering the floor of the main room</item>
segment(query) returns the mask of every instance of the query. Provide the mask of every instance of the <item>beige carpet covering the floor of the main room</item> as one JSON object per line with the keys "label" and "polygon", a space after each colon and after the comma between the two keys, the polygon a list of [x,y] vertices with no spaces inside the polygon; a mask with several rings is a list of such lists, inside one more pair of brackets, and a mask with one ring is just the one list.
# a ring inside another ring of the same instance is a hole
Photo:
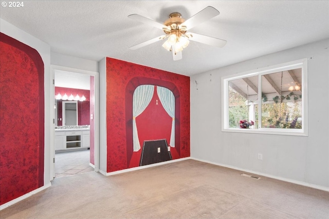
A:
{"label": "beige carpet covering the floor of the main room", "polygon": [[55,178],[1,218],[329,218],[329,192],[186,160]]}

